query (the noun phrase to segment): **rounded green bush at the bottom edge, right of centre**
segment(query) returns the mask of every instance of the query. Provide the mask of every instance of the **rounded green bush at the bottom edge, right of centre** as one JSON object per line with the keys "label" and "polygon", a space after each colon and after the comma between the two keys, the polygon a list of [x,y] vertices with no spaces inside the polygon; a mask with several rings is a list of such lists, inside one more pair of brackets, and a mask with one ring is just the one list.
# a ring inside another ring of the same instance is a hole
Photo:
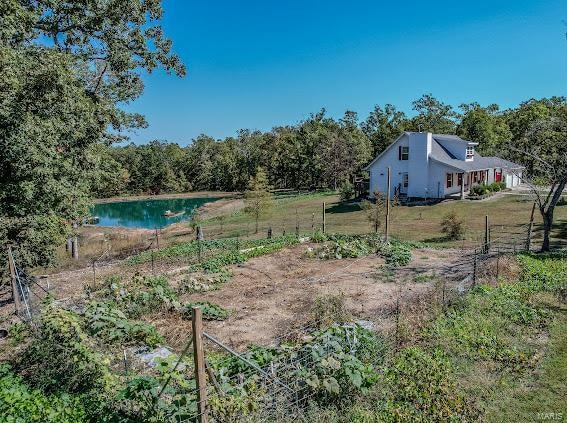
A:
{"label": "rounded green bush at the bottom edge, right of centre", "polygon": [[475,418],[471,401],[455,384],[451,362],[439,350],[403,349],[386,367],[384,383],[378,421],[457,422]]}

